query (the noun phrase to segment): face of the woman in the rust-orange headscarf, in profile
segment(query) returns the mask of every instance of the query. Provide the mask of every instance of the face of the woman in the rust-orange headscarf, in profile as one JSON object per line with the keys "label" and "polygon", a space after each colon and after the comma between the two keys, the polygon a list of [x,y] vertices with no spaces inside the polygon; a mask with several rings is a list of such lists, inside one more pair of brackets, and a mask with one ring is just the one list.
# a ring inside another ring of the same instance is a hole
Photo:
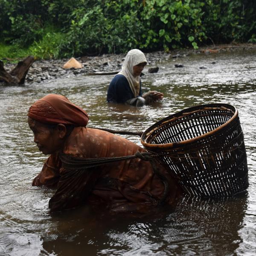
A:
{"label": "face of the woman in the rust-orange headscarf, in profile", "polygon": [[34,142],[43,154],[53,154],[61,151],[64,145],[63,136],[60,134],[58,125],[49,128],[41,122],[28,118],[29,128],[33,131]]}

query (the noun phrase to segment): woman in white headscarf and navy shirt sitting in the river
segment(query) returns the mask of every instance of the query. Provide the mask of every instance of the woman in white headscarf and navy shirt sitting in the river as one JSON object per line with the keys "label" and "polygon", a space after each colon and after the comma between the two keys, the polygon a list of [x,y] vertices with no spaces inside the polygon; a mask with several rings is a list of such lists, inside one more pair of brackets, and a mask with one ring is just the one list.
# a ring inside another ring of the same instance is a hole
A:
{"label": "woman in white headscarf and navy shirt sitting in the river", "polygon": [[142,94],[140,74],[146,64],[142,51],[130,50],[125,56],[122,70],[114,76],[108,87],[107,101],[142,106],[163,99],[163,93],[157,91]]}

